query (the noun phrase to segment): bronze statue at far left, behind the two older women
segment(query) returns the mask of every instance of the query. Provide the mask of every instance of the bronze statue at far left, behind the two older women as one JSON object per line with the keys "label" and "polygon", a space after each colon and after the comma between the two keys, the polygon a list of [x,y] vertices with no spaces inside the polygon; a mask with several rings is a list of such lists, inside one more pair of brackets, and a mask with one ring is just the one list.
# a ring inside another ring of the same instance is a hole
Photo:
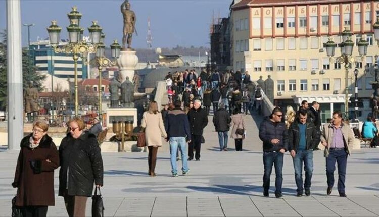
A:
{"label": "bronze statue at far left, behind the two older women", "polygon": [[[33,122],[38,115],[38,89],[33,87],[33,83],[29,83],[29,87],[24,91],[25,113],[27,113],[28,122]],[[32,117],[33,114],[33,117]]]}

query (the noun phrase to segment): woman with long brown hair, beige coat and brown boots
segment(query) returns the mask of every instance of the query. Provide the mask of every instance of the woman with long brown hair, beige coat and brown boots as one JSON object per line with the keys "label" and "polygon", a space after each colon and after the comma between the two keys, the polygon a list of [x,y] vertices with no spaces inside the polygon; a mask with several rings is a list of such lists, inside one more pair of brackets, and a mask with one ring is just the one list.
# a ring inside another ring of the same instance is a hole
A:
{"label": "woman with long brown hair, beige coat and brown boots", "polygon": [[149,110],[143,115],[141,127],[145,128],[146,145],[149,149],[149,175],[155,176],[157,152],[158,148],[162,146],[162,135],[164,138],[167,137],[162,116],[160,112],[158,112],[158,104],[156,101],[151,101],[149,103]]}

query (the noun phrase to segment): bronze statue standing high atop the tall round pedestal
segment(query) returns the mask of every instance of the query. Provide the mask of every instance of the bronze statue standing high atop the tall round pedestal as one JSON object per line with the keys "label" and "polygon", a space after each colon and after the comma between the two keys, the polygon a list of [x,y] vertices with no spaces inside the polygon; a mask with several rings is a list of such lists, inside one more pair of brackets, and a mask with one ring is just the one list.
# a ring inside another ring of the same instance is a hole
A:
{"label": "bronze statue standing high atop the tall round pedestal", "polygon": [[[122,48],[125,48],[126,41],[128,48],[131,48],[131,38],[135,31],[135,21],[137,20],[137,17],[135,16],[134,11],[130,10],[130,3],[128,0],[125,0],[125,2],[121,4],[121,13],[124,17]],[[137,34],[136,31],[135,34]]]}

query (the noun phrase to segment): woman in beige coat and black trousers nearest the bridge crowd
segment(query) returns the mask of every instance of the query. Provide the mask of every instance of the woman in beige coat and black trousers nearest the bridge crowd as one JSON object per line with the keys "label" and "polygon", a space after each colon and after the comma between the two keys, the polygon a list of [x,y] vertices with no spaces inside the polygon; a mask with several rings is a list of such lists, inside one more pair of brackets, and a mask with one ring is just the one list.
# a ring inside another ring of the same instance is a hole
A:
{"label": "woman in beige coat and black trousers nearest the bridge crowd", "polygon": [[235,151],[242,151],[242,140],[245,139],[245,123],[241,110],[238,108],[233,110],[231,123],[233,124],[231,138],[234,139]]}

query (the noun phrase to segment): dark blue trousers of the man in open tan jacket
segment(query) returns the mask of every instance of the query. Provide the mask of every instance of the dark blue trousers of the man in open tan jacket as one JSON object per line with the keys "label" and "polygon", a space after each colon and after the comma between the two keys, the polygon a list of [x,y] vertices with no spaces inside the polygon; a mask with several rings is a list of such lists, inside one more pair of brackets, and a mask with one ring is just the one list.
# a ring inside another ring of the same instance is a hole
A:
{"label": "dark blue trousers of the man in open tan jacket", "polygon": [[347,153],[345,149],[329,150],[329,156],[326,157],[326,178],[327,187],[333,188],[334,185],[334,171],[336,170],[336,162],[338,167],[338,192],[345,193],[345,178],[346,178],[346,165]]}

